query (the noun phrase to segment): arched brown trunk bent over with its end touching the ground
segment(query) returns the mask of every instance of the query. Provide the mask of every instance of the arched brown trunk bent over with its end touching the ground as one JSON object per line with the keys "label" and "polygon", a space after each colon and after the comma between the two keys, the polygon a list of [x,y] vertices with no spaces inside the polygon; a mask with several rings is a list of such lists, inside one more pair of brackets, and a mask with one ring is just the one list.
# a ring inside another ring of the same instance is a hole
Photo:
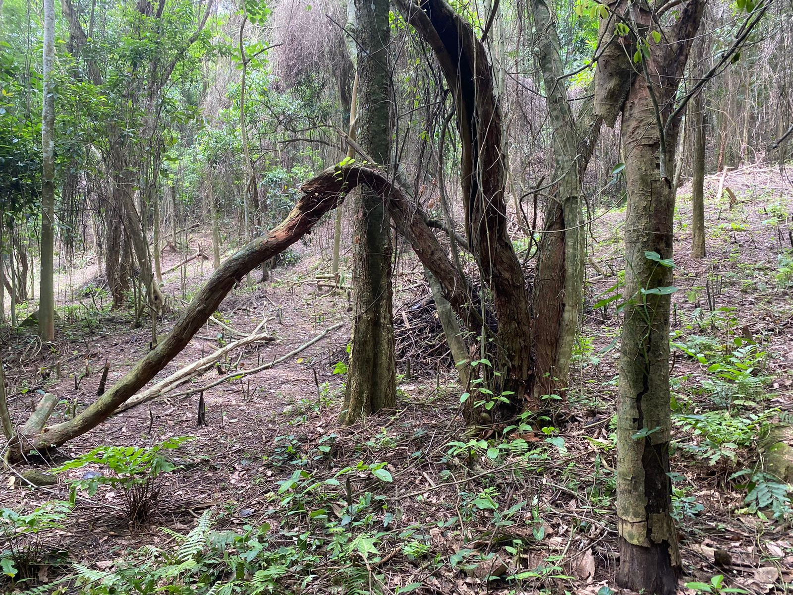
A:
{"label": "arched brown trunk bent over with its end touching the ground", "polygon": [[267,232],[265,236],[251,241],[220,265],[190,302],[168,336],[140,359],[132,370],[78,416],[61,424],[45,427],[35,436],[27,436],[24,443],[15,444],[8,453],[9,460],[21,459],[22,452],[30,449],[47,451],[51,447],[60,446],[90,431],[113,415],[120,405],[142,389],[182,351],[193,335],[215,313],[228,292],[249,271],[297,242],[311,231],[328,210],[342,202],[345,194],[364,183],[382,197],[388,197],[385,202],[391,208],[397,227],[408,235],[423,265],[439,279],[446,299],[458,312],[464,311],[465,292],[462,287],[465,286],[465,280],[458,277],[446,253],[423,219],[416,215],[404,191],[399,186],[394,186],[388,175],[371,166],[331,167],[301,186],[302,198],[281,225]]}

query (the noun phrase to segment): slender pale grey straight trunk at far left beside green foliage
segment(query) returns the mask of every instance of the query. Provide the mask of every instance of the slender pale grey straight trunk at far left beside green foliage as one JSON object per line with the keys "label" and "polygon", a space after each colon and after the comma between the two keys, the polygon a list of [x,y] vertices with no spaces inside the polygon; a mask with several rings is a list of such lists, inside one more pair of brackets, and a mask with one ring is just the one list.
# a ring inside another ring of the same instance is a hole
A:
{"label": "slender pale grey straight trunk at far left beside green foliage", "polygon": [[41,286],[39,290],[39,336],[55,337],[55,2],[44,0],[44,107],[41,110]]}

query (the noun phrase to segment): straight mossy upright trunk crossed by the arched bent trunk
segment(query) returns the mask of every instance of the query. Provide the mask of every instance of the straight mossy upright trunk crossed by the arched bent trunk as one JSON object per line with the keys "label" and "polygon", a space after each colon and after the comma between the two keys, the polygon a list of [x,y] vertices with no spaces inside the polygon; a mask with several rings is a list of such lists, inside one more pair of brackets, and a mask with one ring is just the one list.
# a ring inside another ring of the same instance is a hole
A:
{"label": "straight mossy upright trunk crossed by the arched bent trunk", "polygon": [[[389,163],[391,89],[389,0],[354,0],[358,40],[358,144],[377,163]],[[352,353],[344,418],[393,407],[394,371],[391,233],[381,194],[355,193]]]}

